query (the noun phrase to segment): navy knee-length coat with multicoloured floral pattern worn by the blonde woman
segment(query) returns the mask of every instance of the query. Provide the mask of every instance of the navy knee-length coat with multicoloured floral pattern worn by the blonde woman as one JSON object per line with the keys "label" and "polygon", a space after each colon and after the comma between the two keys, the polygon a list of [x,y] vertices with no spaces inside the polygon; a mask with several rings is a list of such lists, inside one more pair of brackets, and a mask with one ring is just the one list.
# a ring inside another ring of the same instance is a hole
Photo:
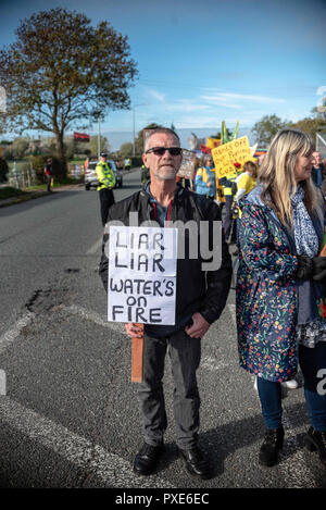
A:
{"label": "navy knee-length coat with multicoloured floral pattern worn by the blonde woman", "polygon": [[241,210],[236,304],[240,365],[267,381],[288,381],[297,373],[296,247],[261,202],[259,188]]}

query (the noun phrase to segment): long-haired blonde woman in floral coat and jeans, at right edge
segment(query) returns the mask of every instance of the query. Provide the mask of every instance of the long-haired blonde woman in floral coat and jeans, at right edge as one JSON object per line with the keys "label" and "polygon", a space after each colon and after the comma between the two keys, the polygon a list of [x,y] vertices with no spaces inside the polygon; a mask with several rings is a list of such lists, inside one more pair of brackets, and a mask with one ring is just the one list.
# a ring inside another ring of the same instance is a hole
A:
{"label": "long-haired blonde woman in floral coat and jeans, at right edge", "polygon": [[326,375],[325,206],[310,178],[312,153],[306,135],[279,132],[259,185],[240,201],[238,347],[240,365],[258,377],[264,465],[276,463],[283,446],[280,383],[294,377],[298,357],[312,424],[306,445],[326,465],[326,388],[318,385]]}

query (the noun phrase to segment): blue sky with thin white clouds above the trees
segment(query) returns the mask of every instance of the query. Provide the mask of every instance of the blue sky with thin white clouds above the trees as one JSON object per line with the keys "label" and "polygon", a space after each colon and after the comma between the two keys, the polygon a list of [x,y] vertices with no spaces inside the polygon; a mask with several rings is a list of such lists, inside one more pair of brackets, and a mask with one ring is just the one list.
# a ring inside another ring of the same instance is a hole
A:
{"label": "blue sky with thin white clouds above the trees", "polygon": [[222,121],[296,122],[325,95],[326,0],[0,0],[0,47],[20,20],[54,7],[128,36],[139,72],[131,109],[109,112],[102,133],[130,133],[134,120],[136,135],[152,122],[212,135]]}

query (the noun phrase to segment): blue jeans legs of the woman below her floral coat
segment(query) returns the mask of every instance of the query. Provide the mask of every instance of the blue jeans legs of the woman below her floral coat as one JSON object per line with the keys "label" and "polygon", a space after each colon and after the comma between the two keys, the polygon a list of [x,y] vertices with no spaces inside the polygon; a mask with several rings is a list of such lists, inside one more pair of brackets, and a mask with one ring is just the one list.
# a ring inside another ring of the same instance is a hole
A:
{"label": "blue jeans legs of the woman below her floral coat", "polygon": [[[304,377],[304,397],[311,424],[326,432],[326,343],[316,347],[299,346],[299,363]],[[281,426],[280,383],[258,377],[258,391],[267,428]]]}

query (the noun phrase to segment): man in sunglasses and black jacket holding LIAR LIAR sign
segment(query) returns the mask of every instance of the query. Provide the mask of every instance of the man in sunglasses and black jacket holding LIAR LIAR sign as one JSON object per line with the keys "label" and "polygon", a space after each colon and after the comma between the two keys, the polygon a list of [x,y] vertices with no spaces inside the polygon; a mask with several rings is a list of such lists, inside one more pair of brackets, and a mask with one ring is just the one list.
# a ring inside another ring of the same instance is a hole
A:
{"label": "man in sunglasses and black jacket holding LIAR LIAR sign", "polygon": [[[218,206],[176,183],[183,160],[178,136],[168,128],[154,129],[146,141],[142,160],[150,169],[150,182],[110,208],[110,244],[106,233],[100,264],[109,291],[109,319],[124,322],[134,339],[142,335],[142,328],[145,332],[142,380],[138,385],[145,443],[135,458],[134,471],[151,474],[162,453],[167,427],[162,380],[168,349],[179,456],[191,475],[208,478],[210,465],[198,447],[200,398],[196,373],[201,338],[227,300],[230,257]],[[198,247],[200,253],[193,256]],[[218,263],[216,251],[221,254]]]}

